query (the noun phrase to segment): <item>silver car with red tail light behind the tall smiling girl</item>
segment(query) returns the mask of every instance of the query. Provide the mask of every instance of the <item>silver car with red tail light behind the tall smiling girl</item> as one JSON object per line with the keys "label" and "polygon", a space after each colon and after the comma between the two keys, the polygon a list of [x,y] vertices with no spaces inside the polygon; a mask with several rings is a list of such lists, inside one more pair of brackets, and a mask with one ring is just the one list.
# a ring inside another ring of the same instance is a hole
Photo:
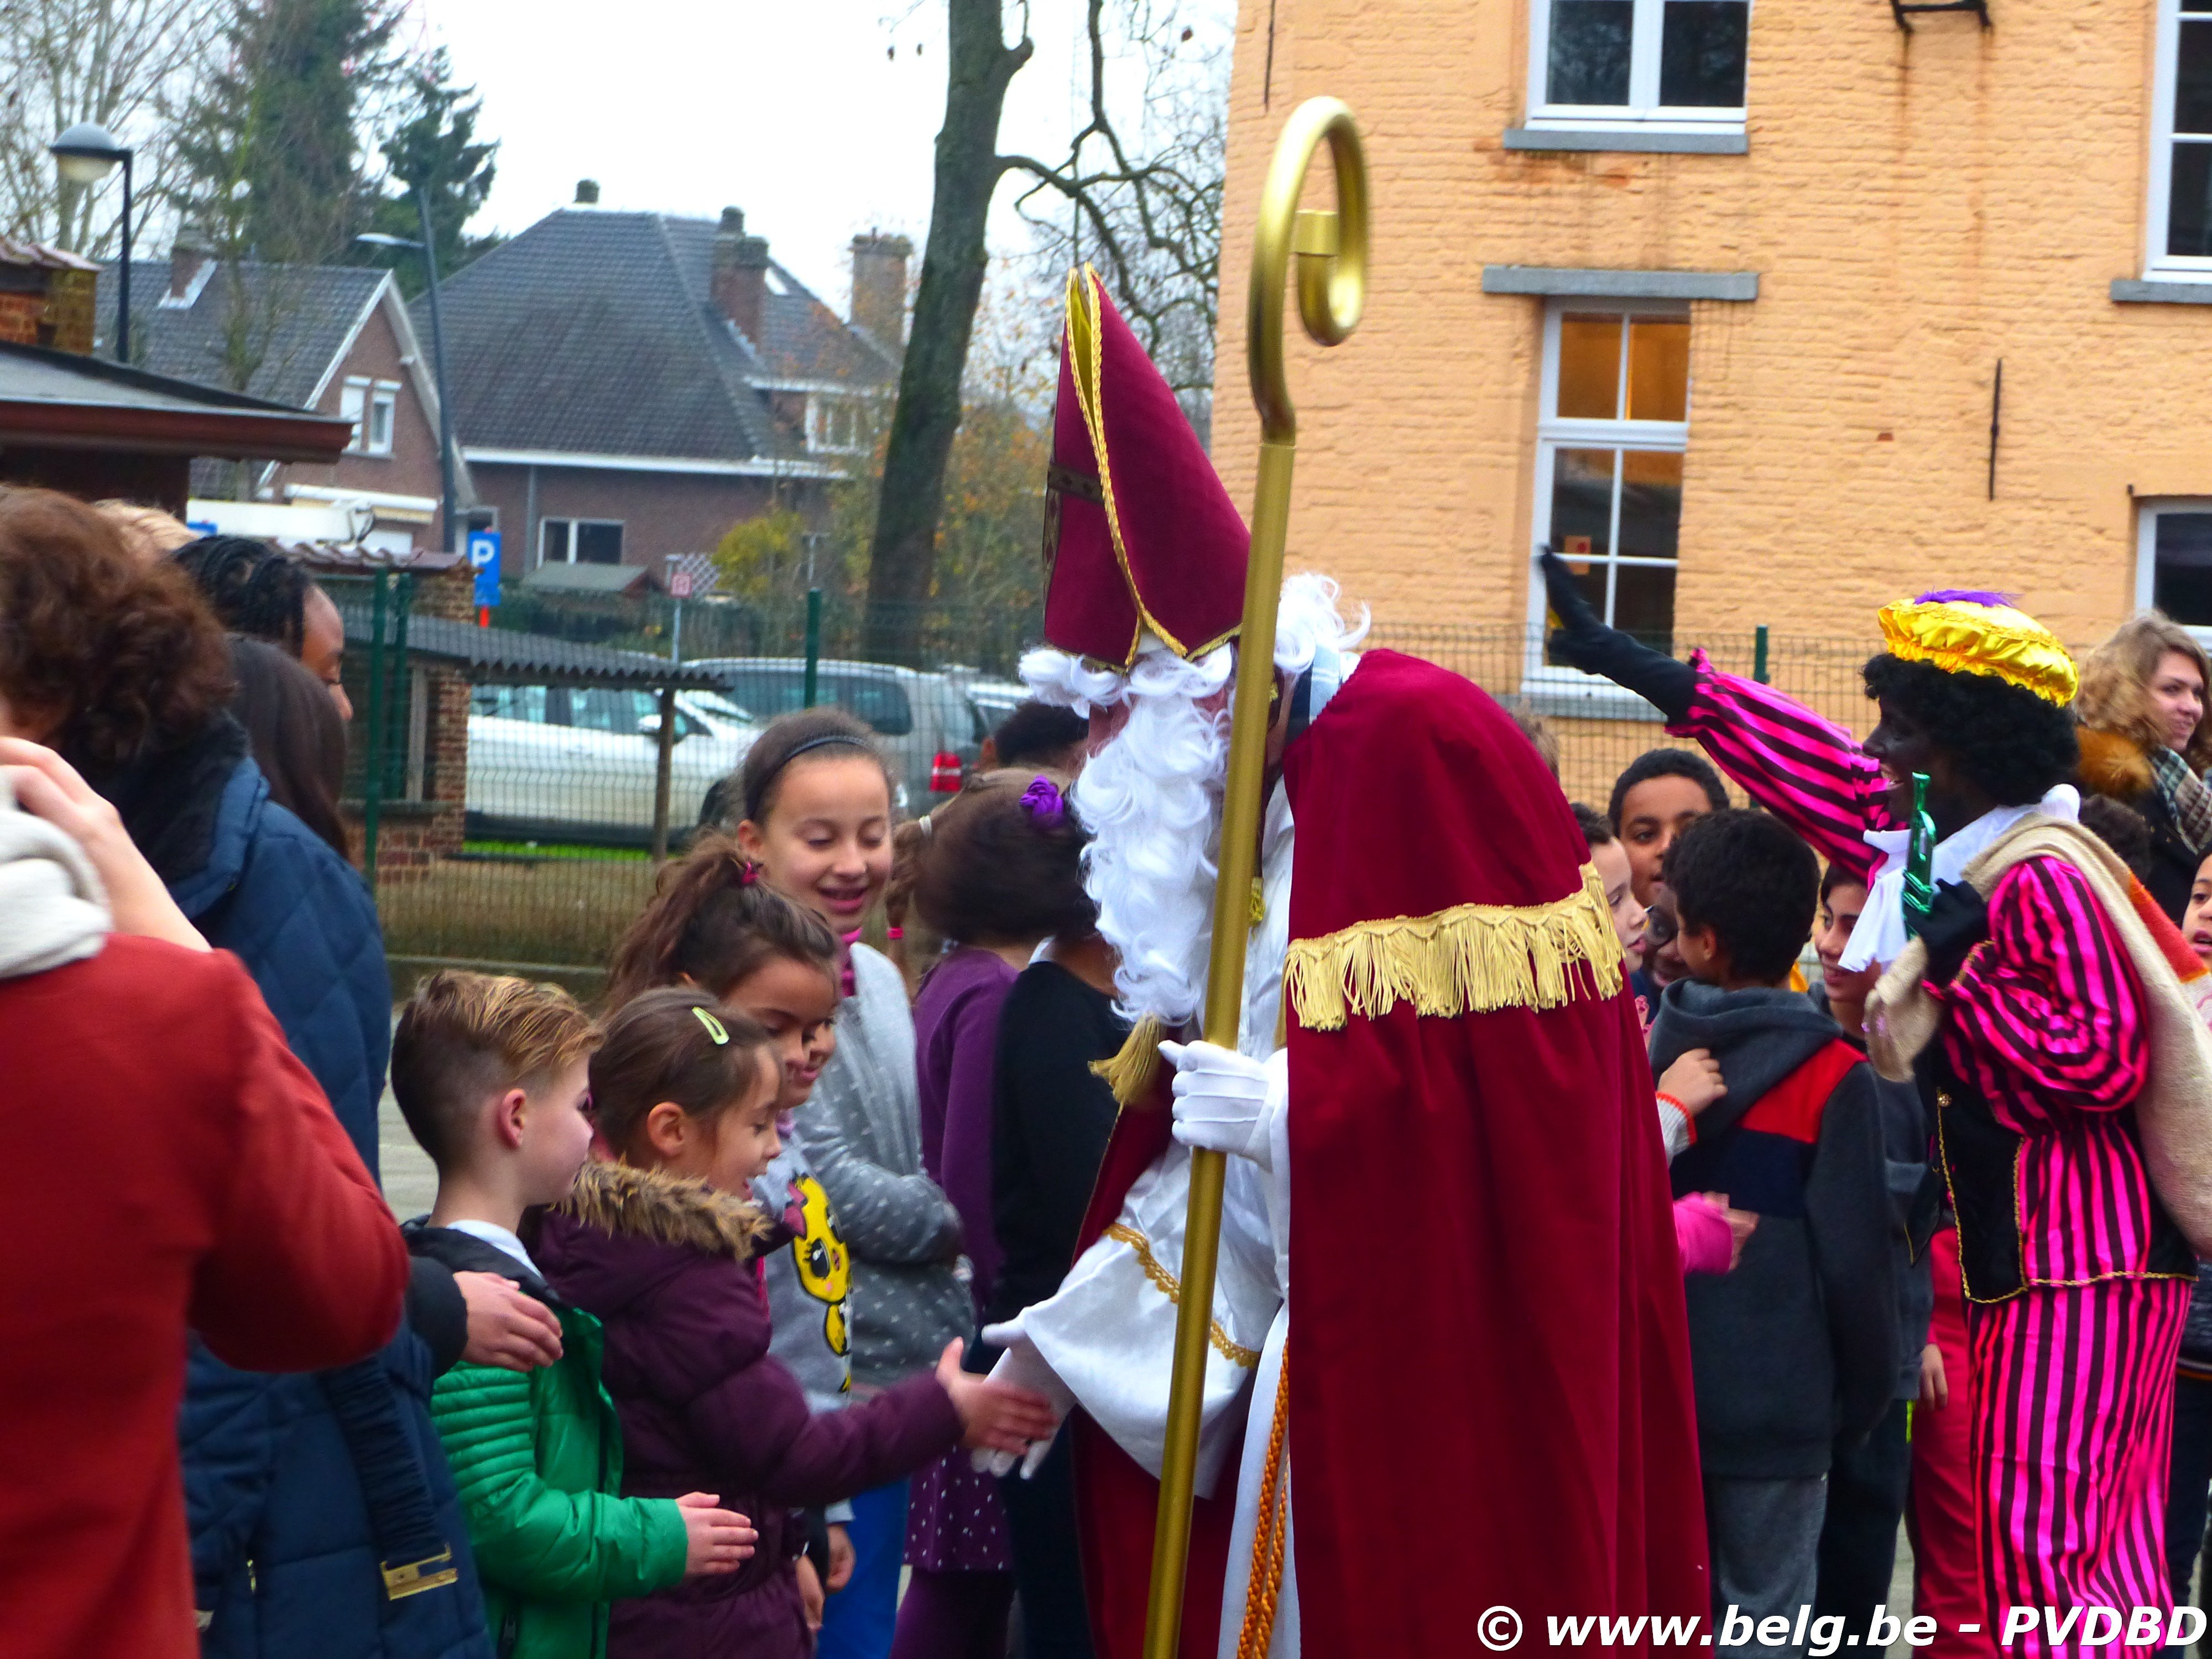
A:
{"label": "silver car with red tail light behind the tall smiling girl", "polygon": [[[686,668],[717,675],[730,701],[768,723],[807,703],[805,657],[699,657]],[[951,675],[874,661],[818,664],[814,701],[867,721],[891,763],[894,805],[929,812],[931,794],[958,794],[989,726]]]}

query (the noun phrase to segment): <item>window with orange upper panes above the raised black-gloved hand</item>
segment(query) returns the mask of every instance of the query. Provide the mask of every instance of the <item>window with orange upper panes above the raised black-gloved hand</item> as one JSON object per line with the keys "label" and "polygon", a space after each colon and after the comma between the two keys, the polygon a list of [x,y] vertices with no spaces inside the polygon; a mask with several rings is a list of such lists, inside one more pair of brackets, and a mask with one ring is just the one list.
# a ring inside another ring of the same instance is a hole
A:
{"label": "window with orange upper panes above the raised black-gloved hand", "polygon": [[[1537,409],[1535,551],[1568,562],[1601,619],[1672,650],[1690,307],[1553,301]],[[1544,582],[1531,575],[1528,679],[1588,686],[1588,675],[1544,659]]]}

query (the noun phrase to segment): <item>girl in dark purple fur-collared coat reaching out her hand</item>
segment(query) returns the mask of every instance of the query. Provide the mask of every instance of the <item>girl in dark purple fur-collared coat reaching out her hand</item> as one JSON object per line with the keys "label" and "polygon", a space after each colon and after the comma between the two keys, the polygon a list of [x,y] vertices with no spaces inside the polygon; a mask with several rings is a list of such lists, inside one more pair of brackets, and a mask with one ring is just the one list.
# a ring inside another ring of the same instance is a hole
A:
{"label": "girl in dark purple fur-collared coat reaching out her hand", "polygon": [[905,1475],[956,1444],[1015,1451],[1051,1407],[960,1369],[949,1345],[916,1376],[845,1411],[810,1411],[770,1347],[754,1254],[768,1234],[743,1194],[781,1150],[783,1068],[752,1020],[706,991],[661,989],[608,1020],[591,1060],[599,1146],[577,1192],[546,1214],[535,1254],[606,1329],[606,1380],[639,1495],[726,1493],[759,1526],[734,1575],[615,1608],[608,1652],[803,1659],[794,1509]]}

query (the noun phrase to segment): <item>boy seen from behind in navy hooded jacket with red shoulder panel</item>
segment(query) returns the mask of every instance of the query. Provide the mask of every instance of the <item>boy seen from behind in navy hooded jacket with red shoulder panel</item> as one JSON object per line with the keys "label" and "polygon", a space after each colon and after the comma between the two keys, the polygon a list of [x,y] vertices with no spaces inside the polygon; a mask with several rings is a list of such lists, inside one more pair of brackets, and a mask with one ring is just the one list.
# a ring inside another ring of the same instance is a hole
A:
{"label": "boy seen from behind in navy hooded jacket with red shoulder panel", "polygon": [[1666,863],[1694,978],[1661,998],[1652,1066],[1703,1046],[1725,1082],[1674,1192],[1759,1214],[1736,1272],[1686,1285],[1714,1617],[1796,1621],[1812,1604],[1829,1455],[1867,1436],[1896,1380],[1874,1068],[1790,991],[1818,883],[1812,847],[1763,812],[1699,816]]}

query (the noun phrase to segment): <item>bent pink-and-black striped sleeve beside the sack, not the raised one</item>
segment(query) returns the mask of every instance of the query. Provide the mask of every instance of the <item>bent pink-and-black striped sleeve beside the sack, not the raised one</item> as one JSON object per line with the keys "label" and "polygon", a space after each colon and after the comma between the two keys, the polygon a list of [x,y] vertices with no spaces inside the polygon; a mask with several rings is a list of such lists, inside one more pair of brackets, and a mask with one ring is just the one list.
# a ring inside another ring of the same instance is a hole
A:
{"label": "bent pink-and-black striped sleeve beside the sack, not the raised one", "polygon": [[2117,1110],[2150,1075],[2143,987],[2079,869],[2013,865],[1989,898],[1989,938],[1947,987],[1944,1042],[2000,1117],[2026,1130],[2053,1104]]}

